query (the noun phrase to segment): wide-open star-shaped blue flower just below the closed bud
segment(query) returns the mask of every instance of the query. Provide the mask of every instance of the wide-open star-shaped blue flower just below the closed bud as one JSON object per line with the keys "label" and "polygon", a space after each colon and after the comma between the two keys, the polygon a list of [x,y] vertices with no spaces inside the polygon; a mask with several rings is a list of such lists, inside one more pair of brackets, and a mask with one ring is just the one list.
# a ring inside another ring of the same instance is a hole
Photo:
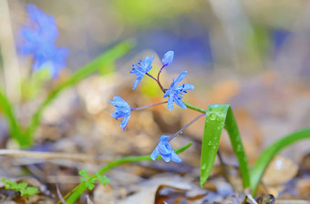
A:
{"label": "wide-open star-shaped blue flower just below the closed bud", "polygon": [[194,86],[191,84],[184,84],[180,85],[179,87],[178,84],[183,80],[183,78],[187,75],[187,72],[184,71],[182,72],[177,79],[174,80],[171,83],[171,88],[166,90],[165,94],[163,97],[169,97],[168,98],[168,108],[171,111],[173,108],[173,102],[178,105],[179,107],[186,108],[185,104],[181,101],[182,97],[180,95],[183,95],[183,93],[187,93],[187,90],[192,90],[194,89]]}

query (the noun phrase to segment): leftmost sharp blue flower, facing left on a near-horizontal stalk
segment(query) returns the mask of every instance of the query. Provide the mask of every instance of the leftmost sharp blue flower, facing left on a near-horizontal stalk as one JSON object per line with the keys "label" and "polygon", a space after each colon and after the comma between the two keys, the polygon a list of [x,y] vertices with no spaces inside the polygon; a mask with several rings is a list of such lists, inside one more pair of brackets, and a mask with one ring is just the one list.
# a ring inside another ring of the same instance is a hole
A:
{"label": "leftmost sharp blue flower, facing left on a near-horizontal stalk", "polygon": [[115,117],[116,119],[124,117],[120,123],[120,128],[125,130],[131,111],[129,104],[121,97],[113,97],[113,101],[109,100],[109,103],[116,107],[115,111],[111,114],[111,117]]}

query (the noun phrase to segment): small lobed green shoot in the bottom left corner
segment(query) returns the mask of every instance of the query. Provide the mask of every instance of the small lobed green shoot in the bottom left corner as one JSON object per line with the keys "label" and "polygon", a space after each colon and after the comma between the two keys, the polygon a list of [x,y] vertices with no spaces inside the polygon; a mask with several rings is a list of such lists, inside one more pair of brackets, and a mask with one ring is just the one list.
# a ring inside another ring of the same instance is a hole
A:
{"label": "small lobed green shoot in the bottom left corner", "polygon": [[36,195],[39,190],[35,187],[27,187],[28,184],[26,182],[23,183],[16,183],[14,181],[11,181],[9,179],[1,179],[2,182],[5,183],[5,189],[12,189],[15,192],[20,193],[22,197],[31,197],[33,195]]}

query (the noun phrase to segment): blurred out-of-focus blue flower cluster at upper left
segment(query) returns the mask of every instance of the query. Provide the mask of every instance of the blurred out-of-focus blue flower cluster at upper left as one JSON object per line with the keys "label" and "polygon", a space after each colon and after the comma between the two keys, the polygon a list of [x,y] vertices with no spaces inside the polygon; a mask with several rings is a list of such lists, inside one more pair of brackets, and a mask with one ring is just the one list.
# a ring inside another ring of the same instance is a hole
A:
{"label": "blurred out-of-focus blue flower cluster at upper left", "polygon": [[29,15],[29,26],[21,29],[24,44],[19,47],[22,55],[33,55],[33,70],[48,68],[52,78],[56,78],[59,71],[66,66],[68,50],[55,45],[58,30],[53,16],[46,15],[36,5],[26,6]]}

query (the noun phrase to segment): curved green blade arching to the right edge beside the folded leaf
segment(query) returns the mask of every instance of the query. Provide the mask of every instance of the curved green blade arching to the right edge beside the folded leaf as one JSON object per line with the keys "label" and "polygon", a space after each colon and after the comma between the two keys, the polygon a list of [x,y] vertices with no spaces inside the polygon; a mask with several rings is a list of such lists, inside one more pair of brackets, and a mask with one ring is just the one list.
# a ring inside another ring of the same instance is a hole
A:
{"label": "curved green blade arching to the right edge beside the folded leaf", "polygon": [[264,170],[267,168],[274,156],[283,148],[286,148],[294,142],[305,138],[310,138],[310,128],[301,129],[285,136],[284,138],[280,138],[268,148],[263,150],[262,154],[259,158],[257,158],[253,168],[251,169],[250,179],[253,196],[255,195],[258,184],[263,177]]}

